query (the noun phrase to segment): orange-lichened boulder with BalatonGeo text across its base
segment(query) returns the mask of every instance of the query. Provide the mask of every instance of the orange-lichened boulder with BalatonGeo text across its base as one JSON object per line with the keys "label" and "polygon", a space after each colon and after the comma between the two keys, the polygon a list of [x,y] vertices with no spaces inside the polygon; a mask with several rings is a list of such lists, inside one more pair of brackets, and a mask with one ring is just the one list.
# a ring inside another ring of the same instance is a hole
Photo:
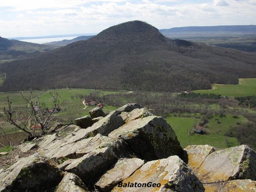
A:
{"label": "orange-lichened boulder with BalatonGeo text across its base", "polygon": [[[137,187],[135,187],[135,183]],[[151,185],[155,183],[157,186],[147,186],[148,183]],[[167,159],[145,163],[145,165],[135,171],[129,178],[118,183],[112,190],[112,192],[120,191],[203,192],[204,187],[186,163],[178,156],[170,156]]]}

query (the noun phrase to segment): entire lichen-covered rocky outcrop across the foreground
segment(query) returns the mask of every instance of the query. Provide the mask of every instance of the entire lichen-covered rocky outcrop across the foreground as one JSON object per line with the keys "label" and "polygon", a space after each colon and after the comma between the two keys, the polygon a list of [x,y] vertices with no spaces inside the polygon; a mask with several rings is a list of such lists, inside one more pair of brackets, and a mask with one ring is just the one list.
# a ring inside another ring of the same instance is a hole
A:
{"label": "entire lichen-covered rocky outcrop across the foreground", "polygon": [[37,153],[0,170],[0,191],[256,191],[256,153],[246,145],[183,150],[165,119],[137,103],[90,116],[20,145]]}

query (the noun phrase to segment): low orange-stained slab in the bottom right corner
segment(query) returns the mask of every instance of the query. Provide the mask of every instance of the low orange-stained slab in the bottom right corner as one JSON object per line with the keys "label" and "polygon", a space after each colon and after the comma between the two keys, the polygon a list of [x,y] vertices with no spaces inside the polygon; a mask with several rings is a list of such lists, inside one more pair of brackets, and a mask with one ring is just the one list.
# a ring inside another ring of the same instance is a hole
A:
{"label": "low orange-stained slab in the bottom right corner", "polygon": [[255,192],[256,181],[239,179],[220,183],[204,184],[205,192]]}

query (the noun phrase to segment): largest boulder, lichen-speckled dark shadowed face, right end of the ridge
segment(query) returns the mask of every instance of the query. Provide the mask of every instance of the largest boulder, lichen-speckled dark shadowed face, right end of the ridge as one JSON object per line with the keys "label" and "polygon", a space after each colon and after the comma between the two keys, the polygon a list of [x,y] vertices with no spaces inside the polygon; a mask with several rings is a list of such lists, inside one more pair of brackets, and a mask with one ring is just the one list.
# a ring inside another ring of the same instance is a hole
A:
{"label": "largest boulder, lichen-speckled dark shadowed face, right end of the ridge", "polygon": [[109,137],[125,140],[137,157],[145,160],[183,154],[174,130],[163,117],[133,120],[111,132]]}

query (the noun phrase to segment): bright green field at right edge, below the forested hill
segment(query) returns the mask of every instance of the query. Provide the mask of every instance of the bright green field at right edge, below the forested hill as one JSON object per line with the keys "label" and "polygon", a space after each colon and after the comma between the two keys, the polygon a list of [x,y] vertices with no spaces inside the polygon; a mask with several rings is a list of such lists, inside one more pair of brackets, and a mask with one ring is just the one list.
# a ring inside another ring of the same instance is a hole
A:
{"label": "bright green field at right edge, below the forested hill", "polygon": [[256,78],[239,79],[237,85],[213,84],[210,90],[195,90],[194,93],[214,93],[230,97],[252,96],[256,95]]}

